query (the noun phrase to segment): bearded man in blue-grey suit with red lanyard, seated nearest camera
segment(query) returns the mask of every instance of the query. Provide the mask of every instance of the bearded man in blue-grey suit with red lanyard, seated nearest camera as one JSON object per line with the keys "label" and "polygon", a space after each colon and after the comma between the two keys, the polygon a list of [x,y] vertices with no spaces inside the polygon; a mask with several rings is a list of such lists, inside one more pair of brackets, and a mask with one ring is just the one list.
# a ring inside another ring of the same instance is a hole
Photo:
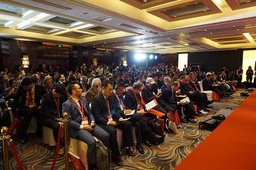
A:
{"label": "bearded man in blue-grey suit with red lanyard, seated nearest camera", "polygon": [[67,90],[71,97],[63,103],[62,112],[68,113],[68,135],[88,145],[89,170],[93,170],[97,164],[96,140],[93,136],[99,138],[109,148],[109,134],[98,125],[92,128],[95,125],[95,119],[86,99],[80,98],[82,94],[81,87],[73,82],[68,85]]}

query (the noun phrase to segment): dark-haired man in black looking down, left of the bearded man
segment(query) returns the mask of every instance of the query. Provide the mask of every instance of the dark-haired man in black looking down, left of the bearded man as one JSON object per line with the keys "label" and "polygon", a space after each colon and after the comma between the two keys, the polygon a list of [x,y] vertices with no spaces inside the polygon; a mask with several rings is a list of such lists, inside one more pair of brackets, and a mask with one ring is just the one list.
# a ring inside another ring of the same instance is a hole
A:
{"label": "dark-haired man in black looking down, left of the bearded man", "polygon": [[[65,85],[57,84],[54,89],[46,94],[44,94],[41,100],[41,121],[42,124],[53,130],[53,137],[55,142],[58,142],[58,134],[61,122],[63,120],[62,116],[62,104],[65,102],[66,87]],[[62,97],[62,98],[61,98]],[[64,145],[60,147],[58,154],[64,155]]]}

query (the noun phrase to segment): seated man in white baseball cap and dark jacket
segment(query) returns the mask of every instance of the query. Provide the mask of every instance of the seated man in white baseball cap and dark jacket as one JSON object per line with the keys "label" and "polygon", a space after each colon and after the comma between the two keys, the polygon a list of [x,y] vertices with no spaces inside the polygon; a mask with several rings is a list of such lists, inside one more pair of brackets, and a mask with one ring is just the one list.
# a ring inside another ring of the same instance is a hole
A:
{"label": "seated man in white baseball cap and dark jacket", "polygon": [[[152,91],[152,86],[153,84],[155,84],[155,81],[153,80],[153,78],[149,77],[147,78],[146,80],[146,85],[145,87],[141,90],[141,95],[142,95],[142,98],[143,100],[146,102],[146,103],[149,103],[150,101],[156,99],[158,105],[156,105],[155,107],[153,107],[152,109],[155,109],[159,112],[162,112],[163,114],[165,114],[165,116],[163,116],[164,118],[164,121],[166,121],[167,117],[167,113],[170,111],[170,110],[173,110],[171,107],[167,106],[166,104],[162,104],[159,100],[159,98],[161,97],[161,93],[158,93],[156,96],[153,94],[153,91]],[[167,132],[167,133],[173,133],[173,131],[171,131],[170,129],[167,129],[166,126],[164,126],[164,131]]]}

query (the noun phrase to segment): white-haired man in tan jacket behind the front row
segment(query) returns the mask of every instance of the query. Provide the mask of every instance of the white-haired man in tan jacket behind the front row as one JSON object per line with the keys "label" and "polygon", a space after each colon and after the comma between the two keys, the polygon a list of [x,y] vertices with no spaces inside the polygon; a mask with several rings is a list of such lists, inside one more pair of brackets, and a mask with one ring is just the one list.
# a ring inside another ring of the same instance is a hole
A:
{"label": "white-haired man in tan jacket behind the front row", "polygon": [[101,91],[101,81],[99,78],[94,78],[92,80],[92,87],[85,93],[84,98],[90,104],[92,99],[99,94]]}

